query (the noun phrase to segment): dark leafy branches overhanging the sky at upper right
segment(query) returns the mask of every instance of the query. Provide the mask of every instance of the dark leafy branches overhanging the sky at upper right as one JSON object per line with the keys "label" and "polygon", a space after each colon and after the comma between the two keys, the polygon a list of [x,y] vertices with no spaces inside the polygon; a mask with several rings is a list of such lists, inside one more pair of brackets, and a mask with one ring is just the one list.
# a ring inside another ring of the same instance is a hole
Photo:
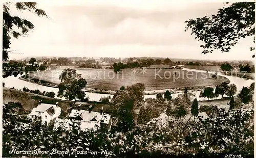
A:
{"label": "dark leafy branches overhanging the sky at upper right", "polygon": [[[211,17],[189,19],[185,21],[186,30],[191,29],[191,34],[196,39],[203,41],[203,54],[210,53],[214,49],[228,52],[231,46],[238,43],[240,38],[253,36],[255,43],[255,3],[233,3],[228,7],[219,9],[216,15]],[[243,22],[246,21],[246,22]],[[250,48],[254,50],[254,47]],[[252,56],[254,58],[254,55]]]}

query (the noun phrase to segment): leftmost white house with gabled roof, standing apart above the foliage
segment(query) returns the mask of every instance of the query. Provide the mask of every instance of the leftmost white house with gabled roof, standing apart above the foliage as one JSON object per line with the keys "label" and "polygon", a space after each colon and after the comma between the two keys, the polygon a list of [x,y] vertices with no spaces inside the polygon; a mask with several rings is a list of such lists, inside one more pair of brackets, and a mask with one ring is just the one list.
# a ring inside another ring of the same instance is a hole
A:
{"label": "leftmost white house with gabled roof, standing apart above the foliage", "polygon": [[59,117],[60,112],[61,109],[58,107],[58,102],[56,104],[48,104],[40,101],[38,106],[32,109],[27,119],[41,119],[42,123],[49,124],[52,119]]}

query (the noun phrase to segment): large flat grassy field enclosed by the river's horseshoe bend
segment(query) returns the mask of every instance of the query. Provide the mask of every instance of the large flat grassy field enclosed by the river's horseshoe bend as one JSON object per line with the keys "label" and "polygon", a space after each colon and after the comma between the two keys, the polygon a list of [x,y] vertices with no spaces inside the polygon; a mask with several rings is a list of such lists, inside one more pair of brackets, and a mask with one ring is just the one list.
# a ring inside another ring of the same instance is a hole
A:
{"label": "large flat grassy field enclosed by the river's horseshoe bend", "polygon": [[[62,70],[42,71],[35,77],[39,80],[59,84],[59,75]],[[146,90],[161,90],[211,86],[227,81],[225,77],[213,79],[212,74],[178,69],[144,69],[144,74],[142,68],[136,69],[136,72],[133,72],[133,69],[124,69],[118,74],[113,69],[78,69],[77,73],[86,78],[87,88],[101,90],[118,90],[121,86],[131,86],[136,83],[145,84]]]}

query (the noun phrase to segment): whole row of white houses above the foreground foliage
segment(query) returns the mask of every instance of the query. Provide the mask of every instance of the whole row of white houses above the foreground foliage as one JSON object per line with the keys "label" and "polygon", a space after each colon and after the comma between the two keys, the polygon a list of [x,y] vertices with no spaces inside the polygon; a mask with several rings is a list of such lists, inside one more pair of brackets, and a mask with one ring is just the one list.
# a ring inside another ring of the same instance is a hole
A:
{"label": "whole row of white houses above the foreground foliage", "polygon": [[[79,106],[78,106],[79,107]],[[66,130],[72,130],[72,120],[80,121],[81,130],[97,129],[100,124],[112,125],[111,115],[103,113],[103,107],[100,112],[92,111],[90,105],[88,110],[80,110],[80,108],[72,109],[70,114],[64,118],[59,118],[61,114],[61,108],[56,104],[48,104],[39,102],[36,108],[33,108],[31,113],[27,116],[28,120],[40,119],[42,124],[49,125],[51,121],[54,121],[53,129],[62,128]]]}

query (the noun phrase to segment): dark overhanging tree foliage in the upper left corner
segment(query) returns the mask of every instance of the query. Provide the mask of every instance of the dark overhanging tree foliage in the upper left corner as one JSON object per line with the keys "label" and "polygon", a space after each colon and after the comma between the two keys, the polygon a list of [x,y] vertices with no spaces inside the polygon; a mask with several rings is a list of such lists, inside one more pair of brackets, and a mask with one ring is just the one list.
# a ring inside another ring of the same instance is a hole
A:
{"label": "dark overhanging tree foliage in the upper left corner", "polygon": [[[12,16],[10,13],[9,6],[12,3],[4,3],[3,5],[3,60],[7,61],[9,59],[8,53],[12,52],[10,49],[11,45],[11,36],[14,38],[18,38],[19,36],[26,36],[29,30],[34,29],[34,25],[26,20],[19,18],[18,16]],[[15,7],[20,11],[30,11],[35,13],[38,16],[45,16],[47,17],[45,11],[36,8],[37,3],[35,2],[18,2],[15,3]],[[14,29],[15,27],[18,28]],[[20,31],[21,29],[22,31]]]}

